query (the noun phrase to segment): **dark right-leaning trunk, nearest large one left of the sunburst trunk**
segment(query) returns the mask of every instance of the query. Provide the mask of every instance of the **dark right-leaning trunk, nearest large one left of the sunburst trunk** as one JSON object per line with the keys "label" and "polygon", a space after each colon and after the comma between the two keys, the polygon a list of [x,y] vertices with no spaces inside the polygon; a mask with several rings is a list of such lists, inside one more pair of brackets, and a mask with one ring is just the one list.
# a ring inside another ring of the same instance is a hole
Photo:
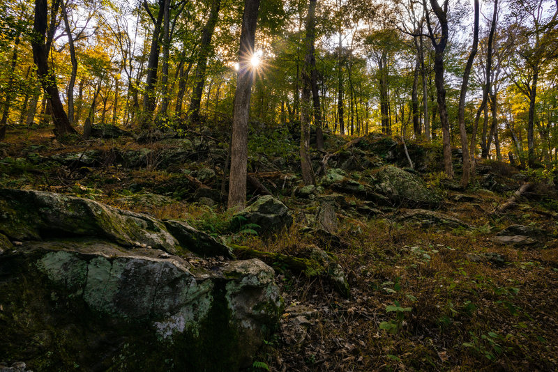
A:
{"label": "dark right-leaning trunk, nearest large one left of the sunburst trunk", "polygon": [[[209,18],[204,27],[204,31],[202,32],[202,43],[199,47],[199,54],[197,57],[194,89],[192,93],[192,100],[190,100],[190,109],[189,109],[190,120],[193,123],[199,122],[199,106],[202,102],[202,93],[204,92],[207,58],[209,56],[213,31],[215,31],[215,26],[217,24],[217,21],[219,20],[220,6],[221,6],[221,0],[213,0],[211,2],[211,10],[209,12]],[[252,53],[253,51],[250,52]],[[249,58],[250,57],[248,57],[248,59]]]}

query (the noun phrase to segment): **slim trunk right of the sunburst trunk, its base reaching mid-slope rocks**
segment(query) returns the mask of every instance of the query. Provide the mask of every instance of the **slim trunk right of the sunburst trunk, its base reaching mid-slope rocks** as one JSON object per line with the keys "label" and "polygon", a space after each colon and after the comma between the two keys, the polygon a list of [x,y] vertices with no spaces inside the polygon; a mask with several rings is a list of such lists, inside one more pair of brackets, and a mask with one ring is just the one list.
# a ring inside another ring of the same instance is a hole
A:
{"label": "slim trunk right of the sunburst trunk, its base reaching mid-slope rocks", "polygon": [[315,10],[316,0],[310,0],[308,5],[308,20],[306,21],[306,55],[302,68],[302,100],[301,100],[301,170],[305,185],[315,185],[316,180],[310,160],[310,118],[312,114],[312,57],[314,56],[315,39]]}

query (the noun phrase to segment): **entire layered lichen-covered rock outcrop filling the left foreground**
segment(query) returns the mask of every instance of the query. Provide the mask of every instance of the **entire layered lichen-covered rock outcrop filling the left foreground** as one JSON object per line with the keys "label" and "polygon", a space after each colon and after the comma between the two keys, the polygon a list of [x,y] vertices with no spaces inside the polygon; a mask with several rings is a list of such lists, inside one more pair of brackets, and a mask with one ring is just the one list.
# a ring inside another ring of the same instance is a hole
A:
{"label": "entire layered lichen-covered rock outcrop filling the left foreground", "polygon": [[13,189],[0,190],[0,210],[7,362],[35,371],[235,371],[278,325],[273,269],[194,258],[189,251],[230,254],[183,222]]}

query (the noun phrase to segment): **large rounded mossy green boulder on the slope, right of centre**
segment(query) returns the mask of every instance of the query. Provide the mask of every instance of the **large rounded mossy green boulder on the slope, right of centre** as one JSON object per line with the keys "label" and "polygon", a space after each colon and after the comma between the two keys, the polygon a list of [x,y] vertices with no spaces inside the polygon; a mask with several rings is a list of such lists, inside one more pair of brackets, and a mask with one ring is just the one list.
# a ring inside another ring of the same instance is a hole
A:
{"label": "large rounded mossy green boulder on the slope, right of centre", "polygon": [[414,173],[396,166],[384,166],[374,176],[375,189],[395,203],[409,206],[435,206],[442,201],[436,190],[428,189],[426,183]]}

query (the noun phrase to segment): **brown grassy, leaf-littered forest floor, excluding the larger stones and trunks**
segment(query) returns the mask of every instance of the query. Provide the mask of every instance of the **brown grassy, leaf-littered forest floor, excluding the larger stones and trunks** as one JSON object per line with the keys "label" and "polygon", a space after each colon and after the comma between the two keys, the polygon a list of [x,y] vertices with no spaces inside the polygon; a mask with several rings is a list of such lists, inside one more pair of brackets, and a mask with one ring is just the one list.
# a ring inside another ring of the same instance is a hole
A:
{"label": "brown grassy, leaf-littered forest floor, excluding the larger stones and trunks", "polygon": [[[400,217],[417,206],[370,208],[359,194],[337,191],[342,201],[335,239],[324,242],[301,232],[316,199],[299,194],[298,141],[285,132],[252,128],[249,171],[292,210],[294,224],[271,236],[233,233],[223,201],[196,194],[198,182],[213,195],[221,189],[227,143],[216,132],[138,144],[130,137],[56,141],[49,130],[8,131],[0,148],[0,187],[73,194],[158,218],[186,219],[260,251],[330,251],[345,271],[349,298],[326,277],[308,278],[271,263],[285,313],[280,329],[255,356],[253,371],[558,369],[558,201],[548,179],[484,161],[472,184],[459,189],[439,169],[439,146],[408,144],[425,185],[442,195],[428,208],[462,225],[411,222]],[[332,164],[345,166],[347,178],[356,182],[364,183],[370,169],[385,164],[407,166],[401,144],[391,139],[374,135],[366,146],[343,150],[347,141],[330,135],[325,150],[336,154]],[[317,169],[324,153],[312,155]],[[527,181],[536,185],[519,203],[494,212]],[[326,187],[322,194],[334,192]],[[538,228],[545,239],[525,245],[495,240],[513,225]]]}

